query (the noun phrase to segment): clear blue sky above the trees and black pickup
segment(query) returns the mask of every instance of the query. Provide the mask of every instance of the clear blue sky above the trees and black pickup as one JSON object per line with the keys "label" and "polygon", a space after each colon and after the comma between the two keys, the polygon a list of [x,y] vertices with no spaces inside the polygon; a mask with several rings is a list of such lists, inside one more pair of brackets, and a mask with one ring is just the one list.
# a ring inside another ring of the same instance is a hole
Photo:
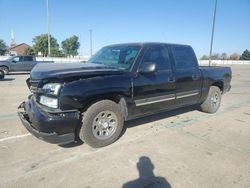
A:
{"label": "clear blue sky above the trees and black pickup", "polygon": [[[115,43],[168,42],[209,54],[215,0],[49,0],[51,34],[59,44],[79,37],[81,55]],[[32,45],[47,33],[46,0],[0,0],[0,39]],[[218,0],[214,53],[250,50],[250,0]]]}

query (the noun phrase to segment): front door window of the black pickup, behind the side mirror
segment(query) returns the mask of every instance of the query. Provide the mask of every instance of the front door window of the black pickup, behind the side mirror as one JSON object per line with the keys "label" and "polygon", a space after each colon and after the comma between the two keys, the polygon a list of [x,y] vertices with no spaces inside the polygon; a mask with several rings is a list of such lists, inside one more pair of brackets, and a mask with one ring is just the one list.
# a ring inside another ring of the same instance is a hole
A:
{"label": "front door window of the black pickup, behind the side mirror", "polygon": [[167,49],[161,46],[150,47],[144,54],[140,66],[143,66],[145,62],[156,63],[156,70],[170,70],[171,62],[169,60]]}

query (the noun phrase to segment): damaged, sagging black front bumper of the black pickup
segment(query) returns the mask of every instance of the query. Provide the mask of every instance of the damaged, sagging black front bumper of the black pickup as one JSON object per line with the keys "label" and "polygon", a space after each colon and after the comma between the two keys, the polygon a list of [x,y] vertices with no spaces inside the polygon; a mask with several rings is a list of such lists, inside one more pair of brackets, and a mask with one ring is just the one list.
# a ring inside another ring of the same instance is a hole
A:
{"label": "damaged, sagging black front bumper of the black pickup", "polygon": [[18,112],[22,124],[35,137],[59,145],[75,141],[78,110],[49,111],[35,102],[33,97],[23,102],[18,109],[23,109]]}

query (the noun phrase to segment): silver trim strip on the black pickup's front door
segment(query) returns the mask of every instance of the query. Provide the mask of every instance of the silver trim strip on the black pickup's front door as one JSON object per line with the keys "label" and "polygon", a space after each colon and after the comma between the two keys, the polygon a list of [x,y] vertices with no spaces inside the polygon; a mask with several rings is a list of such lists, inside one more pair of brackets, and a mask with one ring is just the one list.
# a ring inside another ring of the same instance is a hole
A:
{"label": "silver trim strip on the black pickup's front door", "polygon": [[151,98],[136,100],[135,105],[136,106],[143,106],[143,105],[147,105],[147,104],[170,101],[170,100],[174,100],[174,99],[175,99],[174,94],[163,95],[163,96],[158,96],[158,97],[151,97]]}

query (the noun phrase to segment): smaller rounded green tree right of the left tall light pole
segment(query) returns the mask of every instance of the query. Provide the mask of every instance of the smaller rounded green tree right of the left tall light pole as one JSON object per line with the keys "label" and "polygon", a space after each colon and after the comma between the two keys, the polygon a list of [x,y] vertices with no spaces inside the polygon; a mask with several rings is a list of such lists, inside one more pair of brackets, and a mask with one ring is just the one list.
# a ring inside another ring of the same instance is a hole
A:
{"label": "smaller rounded green tree right of the left tall light pole", "polygon": [[80,42],[78,41],[78,37],[75,35],[62,41],[62,49],[66,56],[78,55],[77,50],[79,47],[80,47]]}

